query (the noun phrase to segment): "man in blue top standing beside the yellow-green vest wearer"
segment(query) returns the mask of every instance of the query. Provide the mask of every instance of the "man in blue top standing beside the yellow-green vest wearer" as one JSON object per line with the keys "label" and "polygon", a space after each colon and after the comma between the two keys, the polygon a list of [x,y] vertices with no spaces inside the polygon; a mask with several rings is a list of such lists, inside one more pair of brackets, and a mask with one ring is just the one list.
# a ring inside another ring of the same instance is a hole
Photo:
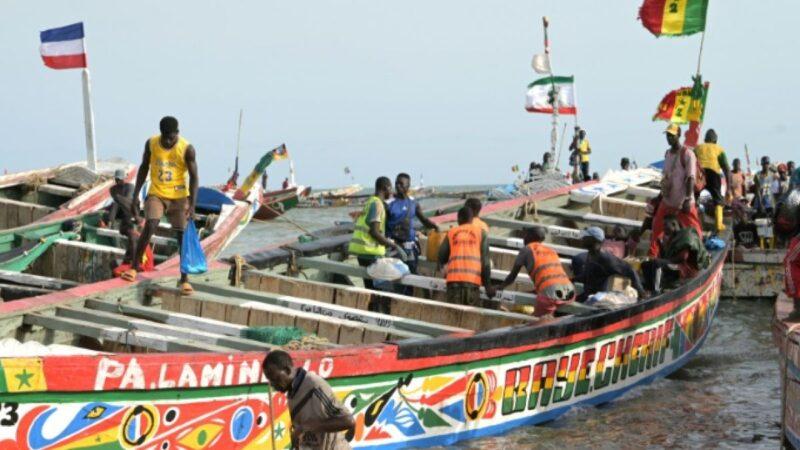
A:
{"label": "man in blue top standing beside the yellow-green vest wearer", "polygon": [[[425,214],[422,213],[422,207],[414,197],[408,194],[410,188],[411,176],[407,173],[398,174],[394,181],[394,197],[387,204],[386,225],[387,234],[405,250],[407,256],[405,263],[408,266],[408,270],[416,274],[420,247],[417,231],[414,229],[414,217],[425,228],[439,231],[439,226],[425,217]],[[403,287],[403,292],[410,294],[412,289],[411,286],[405,286]]]}

